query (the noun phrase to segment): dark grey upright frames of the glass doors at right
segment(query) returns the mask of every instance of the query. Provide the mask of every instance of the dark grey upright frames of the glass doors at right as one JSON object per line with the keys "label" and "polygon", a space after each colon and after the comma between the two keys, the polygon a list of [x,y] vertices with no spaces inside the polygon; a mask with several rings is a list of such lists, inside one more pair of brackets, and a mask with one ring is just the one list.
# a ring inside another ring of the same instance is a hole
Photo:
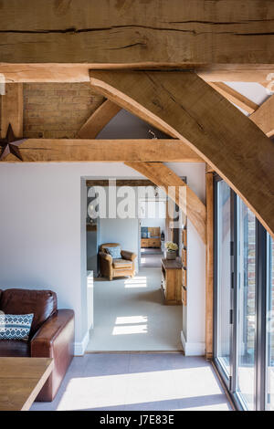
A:
{"label": "dark grey upright frames of the glass doors at right", "polygon": [[[218,361],[217,357],[217,297],[218,297],[218,195],[217,183],[223,179],[217,174],[214,182],[215,195],[215,219],[214,219],[214,363],[223,382],[227,386],[227,392],[237,410],[247,411],[245,402],[240,392],[237,392],[237,202],[238,197],[234,191],[231,192],[231,335],[230,335],[230,376]],[[265,228],[256,220],[256,314],[255,314],[255,410],[266,409],[266,365],[267,365],[267,305],[268,305],[268,252],[269,237]]]}

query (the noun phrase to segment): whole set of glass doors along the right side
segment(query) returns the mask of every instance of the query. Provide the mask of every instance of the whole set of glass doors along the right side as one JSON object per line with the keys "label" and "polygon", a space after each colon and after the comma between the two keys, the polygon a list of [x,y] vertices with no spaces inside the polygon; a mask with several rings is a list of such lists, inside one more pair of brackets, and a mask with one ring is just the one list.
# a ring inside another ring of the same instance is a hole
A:
{"label": "whole set of glass doors along the right side", "polygon": [[214,361],[236,407],[274,411],[274,240],[215,181]]}

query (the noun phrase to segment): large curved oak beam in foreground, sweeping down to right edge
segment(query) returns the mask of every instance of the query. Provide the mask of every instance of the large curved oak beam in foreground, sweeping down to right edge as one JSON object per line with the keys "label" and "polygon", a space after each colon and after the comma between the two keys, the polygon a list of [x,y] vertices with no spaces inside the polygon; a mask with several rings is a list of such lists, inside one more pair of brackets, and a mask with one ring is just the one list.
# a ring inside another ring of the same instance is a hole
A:
{"label": "large curved oak beam in foreground, sweeping down to right edge", "polygon": [[142,119],[165,125],[184,140],[274,236],[273,142],[203,79],[191,72],[92,71],[90,83],[124,109],[141,112]]}

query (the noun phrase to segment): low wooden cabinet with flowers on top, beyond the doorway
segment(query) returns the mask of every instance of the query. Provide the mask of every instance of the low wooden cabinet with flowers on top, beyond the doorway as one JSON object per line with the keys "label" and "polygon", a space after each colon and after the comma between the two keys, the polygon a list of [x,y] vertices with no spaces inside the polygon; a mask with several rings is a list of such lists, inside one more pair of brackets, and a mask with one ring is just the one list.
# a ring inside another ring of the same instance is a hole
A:
{"label": "low wooden cabinet with flowers on top, beyond the doorway", "polygon": [[162,259],[161,288],[168,305],[182,305],[182,267],[179,259]]}

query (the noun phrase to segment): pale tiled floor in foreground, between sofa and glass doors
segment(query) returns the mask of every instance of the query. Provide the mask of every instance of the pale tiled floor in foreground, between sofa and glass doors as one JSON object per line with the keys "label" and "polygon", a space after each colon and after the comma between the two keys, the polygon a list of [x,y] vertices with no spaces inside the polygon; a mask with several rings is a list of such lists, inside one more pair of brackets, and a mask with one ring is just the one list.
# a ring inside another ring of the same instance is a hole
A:
{"label": "pale tiled floor in foreground, between sofa and glass doors", "polygon": [[181,353],[74,358],[52,403],[31,410],[230,410],[210,363]]}

